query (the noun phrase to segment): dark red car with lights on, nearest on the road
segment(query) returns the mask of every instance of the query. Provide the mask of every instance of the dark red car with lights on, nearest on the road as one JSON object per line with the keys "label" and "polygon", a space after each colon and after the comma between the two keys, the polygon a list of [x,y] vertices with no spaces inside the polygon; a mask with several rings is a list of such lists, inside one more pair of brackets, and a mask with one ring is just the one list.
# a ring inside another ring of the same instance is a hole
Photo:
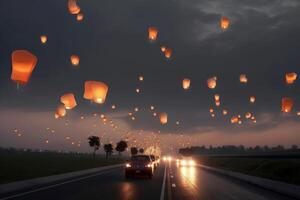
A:
{"label": "dark red car with lights on, nearest on the road", "polygon": [[146,175],[152,178],[154,173],[154,163],[149,155],[136,155],[125,165],[125,177],[130,178],[135,175]]}

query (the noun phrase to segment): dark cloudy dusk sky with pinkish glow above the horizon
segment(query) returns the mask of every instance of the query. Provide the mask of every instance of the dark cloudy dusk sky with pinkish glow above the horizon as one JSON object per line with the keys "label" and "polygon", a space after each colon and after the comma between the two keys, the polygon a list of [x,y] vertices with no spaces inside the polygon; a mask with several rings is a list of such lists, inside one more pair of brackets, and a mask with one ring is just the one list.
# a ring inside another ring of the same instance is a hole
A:
{"label": "dark cloudy dusk sky with pinkish glow above the horizon", "polygon": [[[87,151],[89,135],[101,136],[102,143],[128,139],[132,146],[160,140],[164,150],[300,145],[300,83],[285,83],[287,72],[300,74],[298,0],[79,0],[78,5],[81,22],[69,13],[67,0],[0,0],[1,146]],[[225,31],[222,16],[231,23]],[[150,26],[159,30],[154,42],[148,39]],[[46,44],[41,35],[47,35]],[[173,49],[171,59],[161,46]],[[38,57],[29,83],[20,87],[10,79],[11,53],[17,49]],[[78,67],[70,63],[73,54],[80,56]],[[247,84],[239,82],[240,74],[247,75]],[[211,90],[206,81],[213,76],[218,80]],[[189,90],[182,88],[184,78],[191,80]],[[105,104],[83,99],[86,80],[109,86]],[[78,106],[55,119],[60,96],[69,92]],[[220,107],[214,94],[220,94]],[[281,112],[284,96],[294,99],[291,113]],[[168,124],[153,117],[151,105],[168,113]],[[257,123],[230,123],[246,112]],[[104,125],[100,114],[118,128]]]}

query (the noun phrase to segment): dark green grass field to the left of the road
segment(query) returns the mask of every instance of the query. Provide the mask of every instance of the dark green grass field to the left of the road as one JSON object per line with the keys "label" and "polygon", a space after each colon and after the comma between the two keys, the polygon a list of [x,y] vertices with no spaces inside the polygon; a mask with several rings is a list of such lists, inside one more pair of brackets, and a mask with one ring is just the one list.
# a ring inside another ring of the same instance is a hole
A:
{"label": "dark green grass field to the left of the road", "polygon": [[123,163],[125,158],[90,154],[0,151],[0,184]]}

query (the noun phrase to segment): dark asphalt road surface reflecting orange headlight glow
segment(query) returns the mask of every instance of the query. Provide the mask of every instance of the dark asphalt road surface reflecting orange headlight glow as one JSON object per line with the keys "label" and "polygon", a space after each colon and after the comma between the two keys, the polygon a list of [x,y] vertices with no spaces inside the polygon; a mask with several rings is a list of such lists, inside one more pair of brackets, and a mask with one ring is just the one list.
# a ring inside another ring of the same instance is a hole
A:
{"label": "dark asphalt road surface reflecting orange headlight glow", "polygon": [[[125,179],[123,168],[99,175],[67,181],[42,189],[13,194],[19,200],[288,200],[267,190],[198,167],[179,167],[176,163],[161,165],[152,180]],[[164,181],[165,180],[165,181]],[[1,198],[0,198],[1,199]]]}

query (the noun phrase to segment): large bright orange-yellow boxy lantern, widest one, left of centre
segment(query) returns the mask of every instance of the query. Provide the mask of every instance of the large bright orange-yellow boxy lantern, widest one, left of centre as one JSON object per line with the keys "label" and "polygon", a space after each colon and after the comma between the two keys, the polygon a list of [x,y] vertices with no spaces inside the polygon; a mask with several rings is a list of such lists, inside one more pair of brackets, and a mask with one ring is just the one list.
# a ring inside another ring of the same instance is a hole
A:
{"label": "large bright orange-yellow boxy lantern, widest one, left of centre", "polygon": [[83,98],[103,104],[108,92],[108,86],[99,81],[85,81]]}

